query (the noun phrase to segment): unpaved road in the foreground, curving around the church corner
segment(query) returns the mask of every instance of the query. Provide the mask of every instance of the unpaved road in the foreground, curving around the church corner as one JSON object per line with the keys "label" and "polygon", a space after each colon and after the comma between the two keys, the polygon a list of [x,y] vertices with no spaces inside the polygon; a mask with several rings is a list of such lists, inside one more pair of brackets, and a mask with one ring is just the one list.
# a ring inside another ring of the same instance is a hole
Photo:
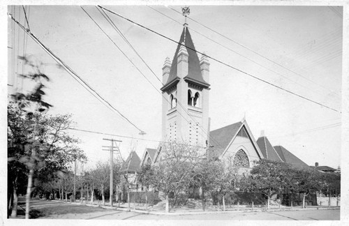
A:
{"label": "unpaved road in the foreground, curving around the church corner", "polygon": [[[25,206],[24,202],[20,202]],[[24,218],[19,211],[19,218]],[[230,212],[186,216],[156,216],[100,207],[51,202],[34,199],[31,201],[31,218],[38,219],[85,219],[85,220],[339,220],[339,209],[269,211],[269,212]]]}

